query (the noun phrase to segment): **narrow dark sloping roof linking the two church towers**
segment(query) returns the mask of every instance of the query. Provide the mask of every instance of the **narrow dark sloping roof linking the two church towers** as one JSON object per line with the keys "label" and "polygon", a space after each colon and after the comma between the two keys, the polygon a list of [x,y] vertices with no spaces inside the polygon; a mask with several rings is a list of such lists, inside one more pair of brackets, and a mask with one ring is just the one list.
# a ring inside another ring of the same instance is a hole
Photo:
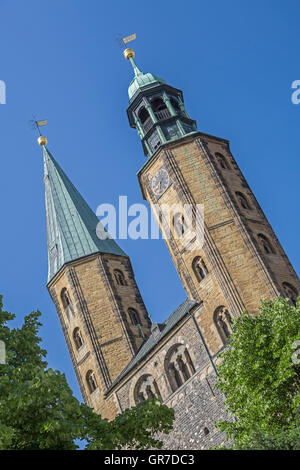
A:
{"label": "narrow dark sloping roof linking the two church towers", "polygon": [[[140,347],[136,356],[129,362],[129,364],[122,370],[116,380],[112,383],[106,393],[120,382],[120,380],[125,377],[139,362],[141,362],[147,354],[149,354],[154,347],[162,340],[167,333],[188,313],[192,310],[193,307],[197,305],[195,300],[186,299],[162,324],[159,325],[159,328],[154,333],[152,331],[151,336],[147,341]],[[159,331],[160,330],[160,331]]]}

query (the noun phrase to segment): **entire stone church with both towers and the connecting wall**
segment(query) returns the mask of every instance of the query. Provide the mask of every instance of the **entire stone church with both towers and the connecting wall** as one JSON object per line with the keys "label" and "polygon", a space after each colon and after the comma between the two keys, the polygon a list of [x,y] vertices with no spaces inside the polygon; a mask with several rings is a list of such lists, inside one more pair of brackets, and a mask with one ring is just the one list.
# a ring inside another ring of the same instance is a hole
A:
{"label": "entire stone church with both towers and the connecting wall", "polygon": [[[98,218],[41,136],[47,287],[84,401],[113,419],[159,397],[176,417],[165,449],[207,449],[225,442],[214,427],[226,417],[215,363],[232,320],[245,309],[258,313],[261,298],[295,303],[300,283],[229,142],[200,132],[182,92],[141,72],[132,49],[124,56],[134,71],[128,118],[147,157],[138,172],[142,195],[168,232],[187,299],[163,323],[150,321],[129,257],[97,236]],[[194,230],[200,205],[203,240]],[[174,213],[167,217],[163,207]]]}

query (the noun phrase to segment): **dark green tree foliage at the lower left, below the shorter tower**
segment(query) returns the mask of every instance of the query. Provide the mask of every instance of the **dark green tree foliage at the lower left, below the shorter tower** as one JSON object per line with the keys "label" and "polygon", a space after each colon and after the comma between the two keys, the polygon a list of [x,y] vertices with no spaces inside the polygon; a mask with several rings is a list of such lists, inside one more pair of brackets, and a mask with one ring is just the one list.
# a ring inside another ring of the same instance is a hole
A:
{"label": "dark green tree foliage at the lower left, below the shorter tower", "polygon": [[0,296],[0,340],[7,352],[0,364],[0,449],[74,450],[78,440],[86,449],[160,448],[157,435],[172,429],[173,410],[151,400],[112,422],[102,419],[73,396],[64,374],[47,367],[40,315],[33,312],[21,328],[10,329],[14,315],[3,311]]}

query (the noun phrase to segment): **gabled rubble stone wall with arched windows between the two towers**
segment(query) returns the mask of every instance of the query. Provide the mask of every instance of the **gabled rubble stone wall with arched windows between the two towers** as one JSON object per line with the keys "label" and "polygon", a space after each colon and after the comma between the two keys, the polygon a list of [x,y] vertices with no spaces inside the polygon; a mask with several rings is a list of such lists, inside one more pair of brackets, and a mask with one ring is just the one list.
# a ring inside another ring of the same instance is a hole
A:
{"label": "gabled rubble stone wall with arched windows between the two towers", "polygon": [[[197,315],[202,315],[198,309]],[[165,369],[168,351],[184,344],[196,372],[175,392]],[[226,419],[223,397],[215,388],[215,375],[193,320],[187,316],[135,369],[115,387],[120,411],[136,405],[135,387],[143,375],[151,374],[157,382],[163,403],[175,410],[175,423],[170,435],[164,436],[165,449],[209,449],[222,445],[226,437],[214,423]]]}

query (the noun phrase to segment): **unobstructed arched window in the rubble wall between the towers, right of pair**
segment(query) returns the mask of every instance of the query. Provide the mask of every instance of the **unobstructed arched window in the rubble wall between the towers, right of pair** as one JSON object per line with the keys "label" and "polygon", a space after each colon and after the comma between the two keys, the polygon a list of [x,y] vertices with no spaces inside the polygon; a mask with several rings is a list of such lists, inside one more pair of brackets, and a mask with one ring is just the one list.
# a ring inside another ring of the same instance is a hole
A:
{"label": "unobstructed arched window in the rubble wall between the towers, right of pair", "polygon": [[196,370],[184,344],[176,344],[166,355],[165,371],[172,392],[184,384]]}

